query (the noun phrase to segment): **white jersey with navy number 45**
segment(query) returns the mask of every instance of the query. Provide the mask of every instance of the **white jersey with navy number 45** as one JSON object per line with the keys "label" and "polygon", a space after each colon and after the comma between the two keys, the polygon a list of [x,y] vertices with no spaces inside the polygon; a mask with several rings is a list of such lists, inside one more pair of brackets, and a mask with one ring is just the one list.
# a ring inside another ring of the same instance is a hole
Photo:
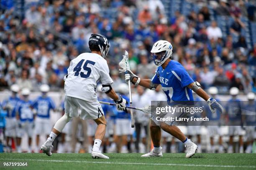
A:
{"label": "white jersey with navy number 45", "polygon": [[65,95],[88,102],[97,101],[97,81],[102,85],[113,83],[107,61],[96,53],[82,53],[70,62],[65,80]]}

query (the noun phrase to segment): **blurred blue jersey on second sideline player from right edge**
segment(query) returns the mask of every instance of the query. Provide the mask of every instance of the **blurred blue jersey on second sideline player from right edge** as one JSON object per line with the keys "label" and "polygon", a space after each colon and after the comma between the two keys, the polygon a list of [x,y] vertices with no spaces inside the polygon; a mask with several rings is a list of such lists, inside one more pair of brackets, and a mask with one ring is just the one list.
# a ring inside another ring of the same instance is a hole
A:
{"label": "blurred blue jersey on second sideline player from right edge", "polygon": [[242,120],[241,100],[230,99],[226,103],[228,119],[232,121]]}

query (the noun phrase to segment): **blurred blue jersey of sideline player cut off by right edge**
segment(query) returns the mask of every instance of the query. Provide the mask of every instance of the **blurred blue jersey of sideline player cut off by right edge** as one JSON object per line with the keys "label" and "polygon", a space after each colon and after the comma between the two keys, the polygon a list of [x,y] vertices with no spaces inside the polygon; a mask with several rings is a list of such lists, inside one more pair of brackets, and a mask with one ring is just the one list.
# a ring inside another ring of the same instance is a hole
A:
{"label": "blurred blue jersey of sideline player cut off by right edge", "polygon": [[243,106],[243,113],[246,116],[246,125],[256,125],[256,101],[253,103],[247,103]]}

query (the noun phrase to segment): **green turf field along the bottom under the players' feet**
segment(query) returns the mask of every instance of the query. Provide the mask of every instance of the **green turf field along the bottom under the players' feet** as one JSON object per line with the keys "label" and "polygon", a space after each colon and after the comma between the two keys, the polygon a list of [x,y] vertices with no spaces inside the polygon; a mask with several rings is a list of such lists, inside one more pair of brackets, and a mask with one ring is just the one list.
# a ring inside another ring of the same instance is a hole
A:
{"label": "green turf field along the bottom under the players' feet", "polygon": [[[90,154],[58,154],[51,157],[41,153],[1,153],[0,170],[219,170],[256,169],[256,154],[196,154],[184,158],[184,153],[165,153],[164,157],[142,158],[137,153],[106,154],[109,160],[92,159]],[[4,167],[4,162],[27,162],[26,167]]]}

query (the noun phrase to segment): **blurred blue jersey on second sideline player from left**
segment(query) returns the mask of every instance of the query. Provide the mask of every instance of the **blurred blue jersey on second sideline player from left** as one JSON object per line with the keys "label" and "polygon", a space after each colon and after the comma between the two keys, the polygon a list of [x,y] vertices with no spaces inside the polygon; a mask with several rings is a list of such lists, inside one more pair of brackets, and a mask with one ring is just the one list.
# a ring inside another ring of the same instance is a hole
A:
{"label": "blurred blue jersey on second sideline player from left", "polygon": [[26,122],[26,121],[33,122],[34,117],[31,109],[32,104],[33,102],[31,100],[28,100],[28,101],[20,100],[20,102],[18,102],[16,110],[18,112],[18,115],[20,116],[21,122]]}

